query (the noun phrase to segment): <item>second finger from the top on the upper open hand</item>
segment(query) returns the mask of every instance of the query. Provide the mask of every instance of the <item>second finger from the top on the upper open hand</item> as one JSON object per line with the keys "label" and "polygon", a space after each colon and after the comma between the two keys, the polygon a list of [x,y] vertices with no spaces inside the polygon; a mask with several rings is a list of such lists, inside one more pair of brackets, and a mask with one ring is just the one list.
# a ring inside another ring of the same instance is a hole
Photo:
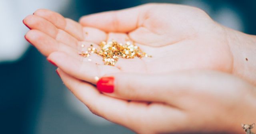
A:
{"label": "second finger from the top on the upper open hand", "polygon": [[46,33],[50,37],[60,41],[64,44],[70,45],[72,47],[77,46],[78,40],[66,33],[65,31],[56,28],[51,22],[35,15],[29,15],[24,18],[23,23],[30,29],[39,30]]}

